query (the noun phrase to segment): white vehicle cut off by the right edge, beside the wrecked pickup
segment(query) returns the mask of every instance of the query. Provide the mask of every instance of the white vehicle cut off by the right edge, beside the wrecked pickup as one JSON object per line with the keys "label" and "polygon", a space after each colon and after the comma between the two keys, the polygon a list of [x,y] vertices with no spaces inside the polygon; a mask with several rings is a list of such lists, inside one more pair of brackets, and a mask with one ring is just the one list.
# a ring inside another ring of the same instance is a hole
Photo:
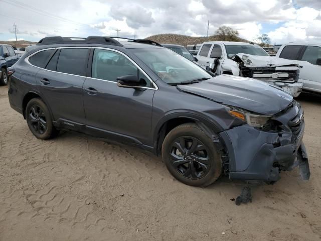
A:
{"label": "white vehicle cut off by the right edge, beside the wrecked pickup", "polygon": [[275,57],[291,59],[297,63],[303,90],[321,93],[320,44],[283,44]]}

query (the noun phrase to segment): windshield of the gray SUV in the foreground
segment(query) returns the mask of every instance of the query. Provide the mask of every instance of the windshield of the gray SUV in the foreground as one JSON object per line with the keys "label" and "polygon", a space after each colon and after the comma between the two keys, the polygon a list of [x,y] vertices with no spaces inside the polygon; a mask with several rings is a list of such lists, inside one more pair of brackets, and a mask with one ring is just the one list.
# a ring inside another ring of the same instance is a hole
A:
{"label": "windshield of the gray SUV in the foreground", "polygon": [[168,84],[212,78],[197,64],[166,48],[139,48],[130,51]]}

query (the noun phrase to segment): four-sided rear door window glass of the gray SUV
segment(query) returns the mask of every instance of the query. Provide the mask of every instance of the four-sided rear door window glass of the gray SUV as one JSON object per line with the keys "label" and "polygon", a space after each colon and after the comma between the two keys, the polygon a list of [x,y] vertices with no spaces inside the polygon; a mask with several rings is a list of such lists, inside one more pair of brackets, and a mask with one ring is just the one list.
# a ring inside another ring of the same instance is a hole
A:
{"label": "four-sided rear door window glass of the gray SUV", "polygon": [[89,49],[61,49],[57,72],[86,76]]}

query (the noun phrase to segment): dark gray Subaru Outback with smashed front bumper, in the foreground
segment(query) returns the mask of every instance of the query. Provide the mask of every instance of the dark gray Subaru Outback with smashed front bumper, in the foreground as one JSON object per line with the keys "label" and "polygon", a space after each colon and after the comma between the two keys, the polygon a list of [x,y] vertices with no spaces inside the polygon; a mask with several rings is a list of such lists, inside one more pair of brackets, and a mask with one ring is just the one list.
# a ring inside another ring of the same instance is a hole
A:
{"label": "dark gray Subaru Outback with smashed front bumper, in the foreground", "polygon": [[297,165],[309,178],[303,110],[289,94],[213,78],[153,41],[47,37],[9,73],[11,107],[39,139],[70,129],[132,144],[193,186],[221,174],[274,182]]}

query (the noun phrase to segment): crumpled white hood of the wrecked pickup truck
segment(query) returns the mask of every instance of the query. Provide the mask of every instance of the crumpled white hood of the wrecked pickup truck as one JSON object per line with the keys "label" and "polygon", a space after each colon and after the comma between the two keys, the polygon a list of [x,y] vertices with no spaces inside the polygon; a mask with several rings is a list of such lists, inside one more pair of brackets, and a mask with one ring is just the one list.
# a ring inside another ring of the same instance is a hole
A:
{"label": "crumpled white hood of the wrecked pickup truck", "polygon": [[257,56],[251,54],[236,54],[243,62],[246,67],[276,67],[292,65],[297,66],[292,60],[276,58],[271,56]]}

